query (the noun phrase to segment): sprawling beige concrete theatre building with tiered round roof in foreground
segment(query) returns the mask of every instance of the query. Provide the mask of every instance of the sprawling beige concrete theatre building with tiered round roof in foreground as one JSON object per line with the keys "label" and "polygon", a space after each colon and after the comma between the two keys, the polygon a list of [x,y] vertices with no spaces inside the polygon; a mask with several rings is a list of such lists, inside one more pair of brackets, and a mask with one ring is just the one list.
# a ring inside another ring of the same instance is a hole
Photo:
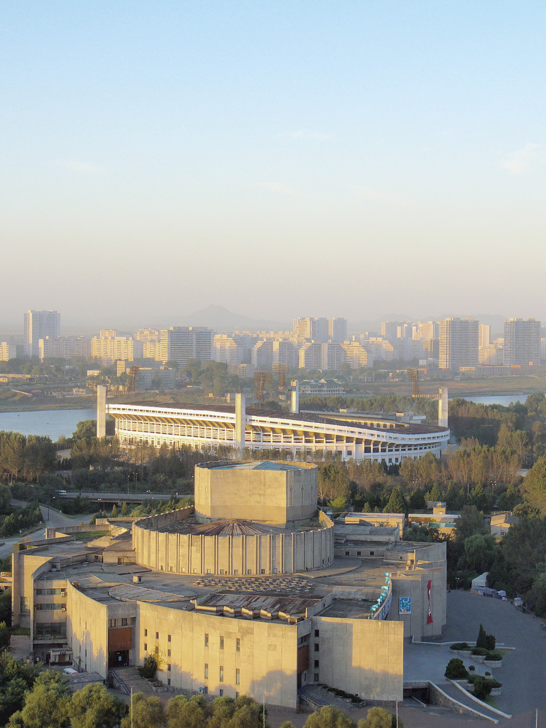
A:
{"label": "sprawling beige concrete theatre building with tiered round roof in foreground", "polygon": [[195,510],[47,529],[12,555],[35,659],[106,677],[154,654],[172,692],[290,709],[317,684],[401,700],[404,637],[446,622],[446,545],[333,521],[308,463],[204,464],[196,483]]}

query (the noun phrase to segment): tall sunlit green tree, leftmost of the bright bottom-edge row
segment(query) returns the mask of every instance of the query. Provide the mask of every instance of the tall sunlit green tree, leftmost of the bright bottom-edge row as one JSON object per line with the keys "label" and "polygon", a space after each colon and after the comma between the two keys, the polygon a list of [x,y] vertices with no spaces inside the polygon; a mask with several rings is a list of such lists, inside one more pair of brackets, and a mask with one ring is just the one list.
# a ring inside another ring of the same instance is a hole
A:
{"label": "tall sunlit green tree, leftmost of the bright bottom-edge row", "polygon": [[25,728],[68,728],[69,703],[68,680],[50,670],[41,673],[21,711]]}

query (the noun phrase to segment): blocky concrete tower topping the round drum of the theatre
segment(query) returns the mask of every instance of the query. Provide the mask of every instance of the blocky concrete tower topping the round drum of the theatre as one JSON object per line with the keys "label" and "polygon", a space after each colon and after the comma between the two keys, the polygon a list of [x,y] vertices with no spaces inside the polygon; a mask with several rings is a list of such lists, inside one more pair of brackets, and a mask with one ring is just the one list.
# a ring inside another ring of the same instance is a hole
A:
{"label": "blocky concrete tower topping the round drum of the theatre", "polygon": [[195,468],[195,513],[202,523],[223,518],[282,523],[317,513],[317,466],[253,462]]}

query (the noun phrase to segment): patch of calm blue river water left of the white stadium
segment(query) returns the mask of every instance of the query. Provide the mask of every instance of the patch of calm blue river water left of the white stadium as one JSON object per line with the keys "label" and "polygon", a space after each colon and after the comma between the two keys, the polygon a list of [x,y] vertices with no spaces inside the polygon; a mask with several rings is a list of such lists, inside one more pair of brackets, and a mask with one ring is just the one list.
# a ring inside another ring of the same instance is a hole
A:
{"label": "patch of calm blue river water left of the white stadium", "polygon": [[0,412],[0,430],[12,430],[23,435],[49,435],[56,442],[60,435],[71,437],[78,422],[84,419],[97,419],[96,409]]}

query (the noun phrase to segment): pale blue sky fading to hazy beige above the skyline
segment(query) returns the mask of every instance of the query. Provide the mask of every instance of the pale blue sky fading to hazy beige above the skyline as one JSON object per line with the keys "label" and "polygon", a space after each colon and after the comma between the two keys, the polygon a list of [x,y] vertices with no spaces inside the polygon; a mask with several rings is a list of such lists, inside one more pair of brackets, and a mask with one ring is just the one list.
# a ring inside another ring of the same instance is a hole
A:
{"label": "pale blue sky fading to hazy beige above the skyline", "polygon": [[546,5],[4,1],[0,331],[546,320]]}

